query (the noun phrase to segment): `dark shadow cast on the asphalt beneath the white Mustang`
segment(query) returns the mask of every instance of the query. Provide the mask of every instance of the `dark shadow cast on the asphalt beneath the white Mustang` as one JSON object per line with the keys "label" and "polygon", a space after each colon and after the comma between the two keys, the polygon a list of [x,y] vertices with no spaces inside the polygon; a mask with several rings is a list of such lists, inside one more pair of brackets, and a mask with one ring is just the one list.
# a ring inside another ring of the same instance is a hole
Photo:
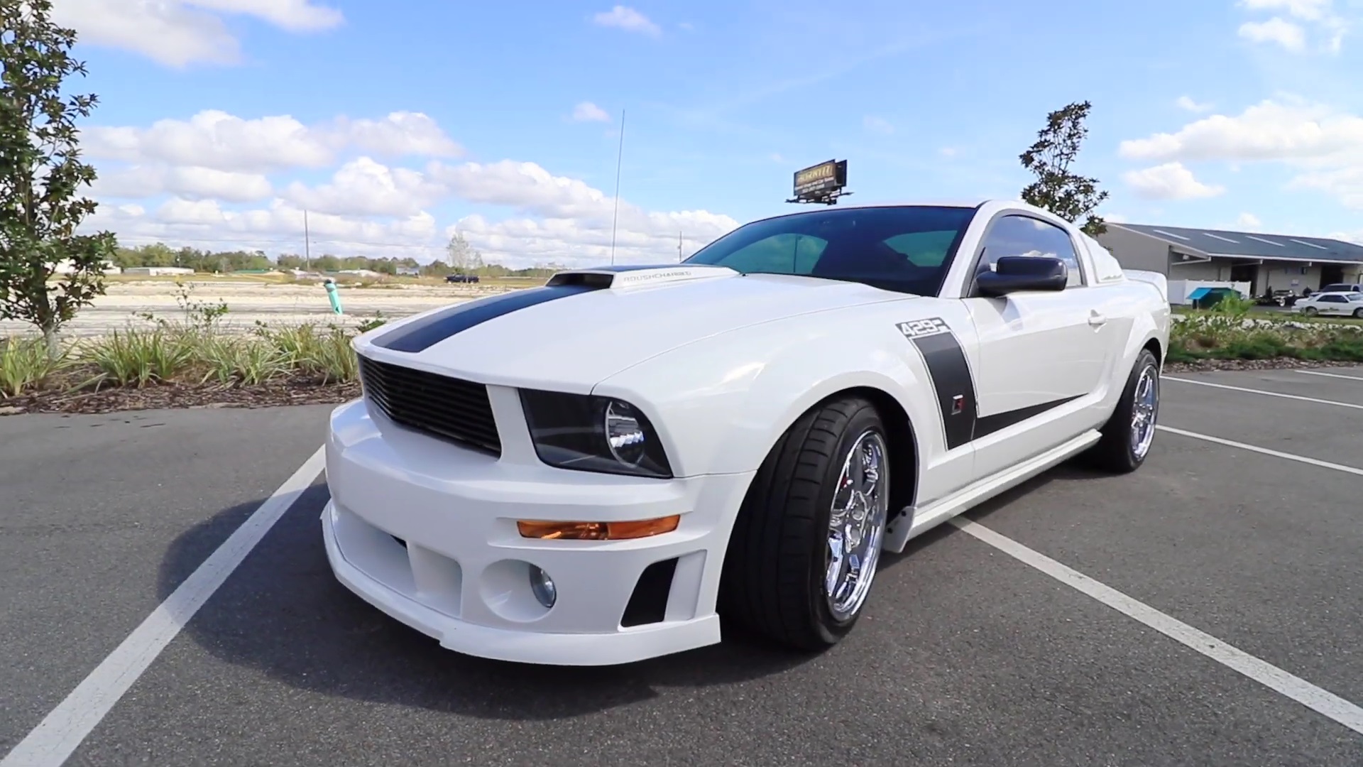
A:
{"label": "dark shadow cast on the asphalt beneath the white Mustang", "polygon": [[[1041,484],[1089,476],[1060,465],[968,516],[979,520]],[[661,688],[732,685],[822,658],[773,646],[728,622],[720,644],[620,666],[536,666],[453,652],[335,580],[319,530],[326,500],[324,483],[309,487],[184,633],[214,658],[290,688],[502,721],[581,717],[653,699]],[[177,538],[161,564],[159,598],[169,596],[259,505],[224,509]],[[904,553],[887,555],[883,566],[900,566],[958,532],[939,525],[910,540]],[[827,654],[844,651],[848,643]]]}

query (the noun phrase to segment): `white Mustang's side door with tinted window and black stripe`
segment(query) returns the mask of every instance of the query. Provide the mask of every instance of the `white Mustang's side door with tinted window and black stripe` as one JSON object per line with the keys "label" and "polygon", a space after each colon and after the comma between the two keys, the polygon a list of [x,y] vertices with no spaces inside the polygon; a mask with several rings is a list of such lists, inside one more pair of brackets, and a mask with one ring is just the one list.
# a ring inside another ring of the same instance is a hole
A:
{"label": "white Mustang's side door with tinted window and black stripe", "polygon": [[1078,258],[1070,233],[1024,213],[990,222],[972,273],[1005,255],[1048,255],[1070,270],[1063,291],[964,298],[979,332],[975,476],[983,479],[1094,426],[1120,319]]}

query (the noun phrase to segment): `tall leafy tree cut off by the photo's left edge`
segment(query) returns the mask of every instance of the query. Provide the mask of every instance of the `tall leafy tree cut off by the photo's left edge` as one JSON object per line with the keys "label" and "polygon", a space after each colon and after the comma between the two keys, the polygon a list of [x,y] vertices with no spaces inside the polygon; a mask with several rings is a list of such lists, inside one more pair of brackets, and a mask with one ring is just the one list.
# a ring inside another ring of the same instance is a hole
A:
{"label": "tall leafy tree cut off by the photo's left edge", "polygon": [[38,326],[56,355],[61,325],[104,293],[117,243],[110,232],[75,233],[97,205],[76,197],[95,171],[80,162],[75,119],[98,97],[61,93],[86,68],[68,55],[75,30],[50,11],[52,0],[0,0],[0,318]]}

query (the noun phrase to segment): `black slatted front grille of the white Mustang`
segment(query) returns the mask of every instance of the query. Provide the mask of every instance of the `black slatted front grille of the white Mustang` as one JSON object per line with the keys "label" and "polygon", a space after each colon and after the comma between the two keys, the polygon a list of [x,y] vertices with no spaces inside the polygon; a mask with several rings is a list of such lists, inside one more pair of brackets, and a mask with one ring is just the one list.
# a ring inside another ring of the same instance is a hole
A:
{"label": "black slatted front grille of the white Mustang", "polygon": [[488,388],[424,370],[360,358],[364,394],[394,423],[502,456]]}

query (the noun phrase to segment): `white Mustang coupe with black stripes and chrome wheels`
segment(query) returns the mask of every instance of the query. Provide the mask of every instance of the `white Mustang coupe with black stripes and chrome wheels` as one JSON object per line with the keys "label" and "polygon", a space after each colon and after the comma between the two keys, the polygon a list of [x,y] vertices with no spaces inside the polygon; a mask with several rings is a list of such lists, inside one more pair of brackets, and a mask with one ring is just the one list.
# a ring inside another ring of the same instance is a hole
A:
{"label": "white Mustang coupe with black stripes and chrome wheels", "polygon": [[609,665],[803,650],[882,551],[1154,437],[1164,277],[1021,202],[755,221],[680,265],[575,269],[354,341],[327,555],[443,647]]}

